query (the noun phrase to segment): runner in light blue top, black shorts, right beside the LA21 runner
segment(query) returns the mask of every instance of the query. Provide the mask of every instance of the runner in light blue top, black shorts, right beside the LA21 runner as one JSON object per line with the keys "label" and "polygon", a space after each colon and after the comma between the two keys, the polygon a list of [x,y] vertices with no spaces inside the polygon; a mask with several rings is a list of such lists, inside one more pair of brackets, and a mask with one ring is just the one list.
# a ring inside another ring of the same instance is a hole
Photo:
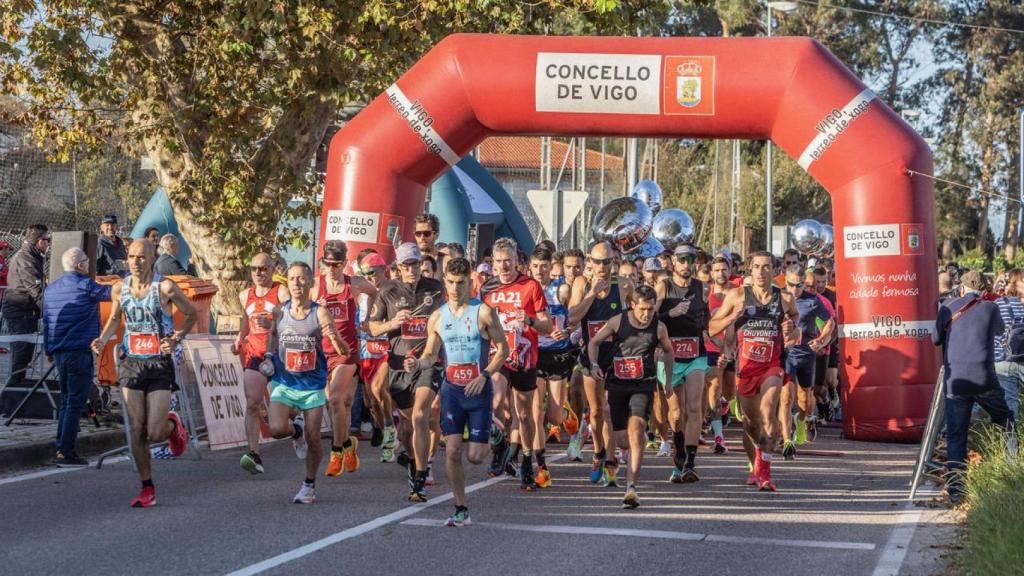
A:
{"label": "runner in light blue top, black shorts, right beside the LA21 runner", "polygon": [[[558,426],[565,419],[566,384],[577,357],[572,355],[569,345],[569,333],[566,331],[569,320],[569,293],[571,289],[561,281],[551,279],[551,252],[544,248],[534,250],[529,260],[529,272],[544,288],[544,297],[548,302],[548,313],[553,323],[551,334],[538,338],[537,385],[540,394],[534,395],[534,418],[537,433],[534,436],[534,450],[537,454],[537,486],[551,486],[551,472],[548,471],[545,460],[545,442],[549,436],[545,429],[544,401],[547,395],[547,422],[554,430],[554,439],[558,440]],[[545,462],[542,464],[541,462]]]}

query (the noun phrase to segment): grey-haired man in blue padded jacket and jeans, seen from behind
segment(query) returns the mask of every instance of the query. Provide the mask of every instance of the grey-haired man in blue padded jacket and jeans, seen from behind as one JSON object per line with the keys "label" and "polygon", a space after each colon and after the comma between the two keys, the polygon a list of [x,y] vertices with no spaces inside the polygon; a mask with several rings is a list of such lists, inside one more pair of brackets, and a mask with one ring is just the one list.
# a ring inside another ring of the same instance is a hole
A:
{"label": "grey-haired man in blue padded jacket and jeans, seen from behind", "polygon": [[43,338],[60,381],[56,465],[78,467],[87,464],[75,451],[75,441],[92,388],[89,345],[99,335],[98,303],[111,299],[111,287],[89,277],[89,257],[81,248],[69,248],[60,255],[60,263],[65,275],[43,293]]}

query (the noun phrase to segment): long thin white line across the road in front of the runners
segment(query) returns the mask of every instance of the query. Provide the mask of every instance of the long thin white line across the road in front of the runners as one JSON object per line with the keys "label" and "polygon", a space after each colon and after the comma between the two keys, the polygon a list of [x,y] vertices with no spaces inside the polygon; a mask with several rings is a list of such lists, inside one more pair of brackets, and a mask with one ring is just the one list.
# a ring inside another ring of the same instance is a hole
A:
{"label": "long thin white line across the road in front of the runners", "polygon": [[[442,520],[415,518],[401,523],[402,526],[444,526]],[[698,532],[676,532],[672,530],[637,530],[633,528],[607,528],[593,526],[558,526],[544,524],[505,524],[496,522],[474,522],[473,526],[483,526],[498,530],[519,532],[545,532],[553,534],[593,536],[633,536],[637,538],[660,538],[664,540],[689,540],[694,542],[728,542],[730,544],[766,544],[772,546],[798,546],[805,548],[830,548],[841,550],[873,550],[868,542],[844,542],[834,540],[786,540],[783,538],[750,538],[746,536],[724,536]]]}

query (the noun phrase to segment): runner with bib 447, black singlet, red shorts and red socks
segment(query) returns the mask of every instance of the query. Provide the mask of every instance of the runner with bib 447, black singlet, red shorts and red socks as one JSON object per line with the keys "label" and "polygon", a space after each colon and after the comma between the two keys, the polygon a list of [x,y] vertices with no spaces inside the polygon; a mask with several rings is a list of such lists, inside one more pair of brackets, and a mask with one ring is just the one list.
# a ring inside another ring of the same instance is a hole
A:
{"label": "runner with bib 447, black singlet, red shorts and red socks", "polygon": [[739,406],[743,413],[743,447],[751,462],[746,484],[774,491],[771,454],[775,444],[781,348],[796,341],[794,322],[800,317],[793,296],[772,286],[772,255],[750,258],[753,285],[730,290],[709,323],[714,336],[735,330]]}

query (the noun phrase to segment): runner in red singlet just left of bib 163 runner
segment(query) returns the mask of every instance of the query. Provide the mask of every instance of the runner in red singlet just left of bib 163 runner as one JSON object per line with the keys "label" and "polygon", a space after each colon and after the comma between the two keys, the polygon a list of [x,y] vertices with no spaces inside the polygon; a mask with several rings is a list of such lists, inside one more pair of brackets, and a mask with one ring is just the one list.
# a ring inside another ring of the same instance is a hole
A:
{"label": "runner in red singlet just left of bib 163 runner", "polygon": [[[242,361],[242,379],[246,393],[246,441],[249,452],[242,455],[239,464],[249,474],[263,474],[263,459],[259,455],[259,423],[266,400],[269,381],[259,365],[266,354],[266,334],[273,325],[273,311],[288,299],[288,287],[273,281],[273,258],[259,253],[249,262],[253,285],[239,294],[242,304],[242,323],[239,335],[231,343],[231,354]],[[296,445],[296,451],[303,450]]]}

